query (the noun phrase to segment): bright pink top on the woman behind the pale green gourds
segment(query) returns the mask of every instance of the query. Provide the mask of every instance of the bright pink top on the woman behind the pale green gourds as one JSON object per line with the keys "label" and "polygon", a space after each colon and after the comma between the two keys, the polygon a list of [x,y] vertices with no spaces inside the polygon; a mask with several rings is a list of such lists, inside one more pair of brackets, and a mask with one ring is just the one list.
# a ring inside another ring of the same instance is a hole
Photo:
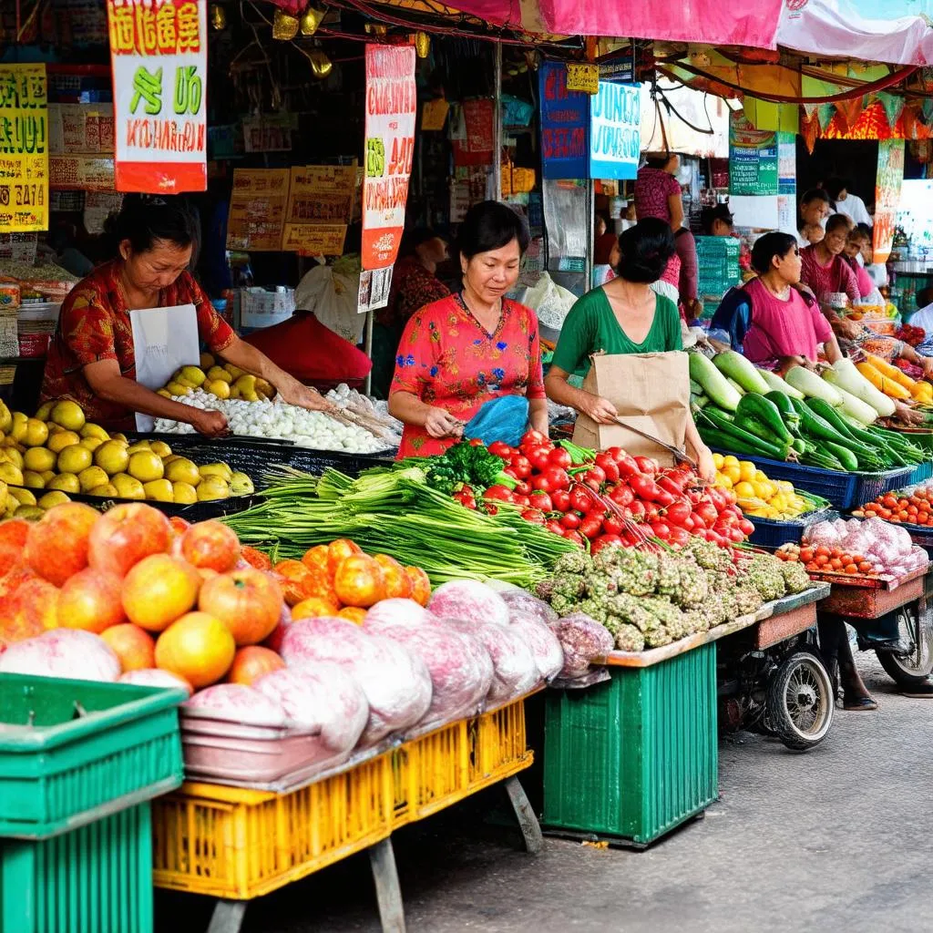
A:
{"label": "bright pink top on the woman behind the pale green gourds", "polygon": [[752,279],[745,285],[752,306],[752,324],[742,341],[742,353],[753,363],[781,356],[806,356],[816,362],[817,344],[832,337],[829,321],[818,305],[809,305],[796,288],[782,301]]}

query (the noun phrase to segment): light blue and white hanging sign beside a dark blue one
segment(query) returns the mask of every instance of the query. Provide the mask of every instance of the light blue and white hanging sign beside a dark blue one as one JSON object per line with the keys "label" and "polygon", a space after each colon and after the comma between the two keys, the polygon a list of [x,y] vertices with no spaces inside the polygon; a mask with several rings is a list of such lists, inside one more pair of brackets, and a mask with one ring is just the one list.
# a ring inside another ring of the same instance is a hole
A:
{"label": "light blue and white hanging sign beside a dark blue one", "polygon": [[590,178],[632,179],[641,156],[641,85],[600,81],[590,98]]}

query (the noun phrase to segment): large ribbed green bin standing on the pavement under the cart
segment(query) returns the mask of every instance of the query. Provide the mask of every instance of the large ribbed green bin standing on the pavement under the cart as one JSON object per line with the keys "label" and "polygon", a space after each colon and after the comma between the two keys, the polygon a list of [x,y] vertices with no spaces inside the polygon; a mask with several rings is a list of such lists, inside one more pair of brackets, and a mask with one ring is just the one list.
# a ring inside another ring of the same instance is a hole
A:
{"label": "large ribbed green bin standing on the pavement under the cart", "polygon": [[545,705],[548,829],[647,845],[718,796],[716,645]]}

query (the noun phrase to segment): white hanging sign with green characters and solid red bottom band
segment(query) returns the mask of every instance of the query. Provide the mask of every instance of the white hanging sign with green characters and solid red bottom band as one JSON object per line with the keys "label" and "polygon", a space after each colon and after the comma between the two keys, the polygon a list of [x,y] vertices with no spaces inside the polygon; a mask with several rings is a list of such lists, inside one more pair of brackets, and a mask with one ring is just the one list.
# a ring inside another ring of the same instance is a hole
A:
{"label": "white hanging sign with green characters and solid red bottom band", "polygon": [[117,190],[207,188],[207,0],[107,0]]}

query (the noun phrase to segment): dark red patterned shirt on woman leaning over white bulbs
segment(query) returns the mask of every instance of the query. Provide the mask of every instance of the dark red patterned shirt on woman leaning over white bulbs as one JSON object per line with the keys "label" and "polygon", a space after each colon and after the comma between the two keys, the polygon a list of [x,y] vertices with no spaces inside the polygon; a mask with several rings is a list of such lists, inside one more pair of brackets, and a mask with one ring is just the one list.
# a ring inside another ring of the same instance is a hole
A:
{"label": "dark red patterned shirt on woman leaning over white bulbs", "polygon": [[[102,359],[115,359],[120,373],[136,378],[130,307],[119,280],[120,259],[106,262],[68,293],[62,303],[42,381],[41,398],[73,398],[88,421],[114,430],[132,428],[133,412],[116,402],[97,397],[84,367]],[[236,339],[230,325],[214,310],[201,286],[188,272],[162,289],[159,308],[193,304],[198,314],[198,335],[213,353],[223,354]]]}

